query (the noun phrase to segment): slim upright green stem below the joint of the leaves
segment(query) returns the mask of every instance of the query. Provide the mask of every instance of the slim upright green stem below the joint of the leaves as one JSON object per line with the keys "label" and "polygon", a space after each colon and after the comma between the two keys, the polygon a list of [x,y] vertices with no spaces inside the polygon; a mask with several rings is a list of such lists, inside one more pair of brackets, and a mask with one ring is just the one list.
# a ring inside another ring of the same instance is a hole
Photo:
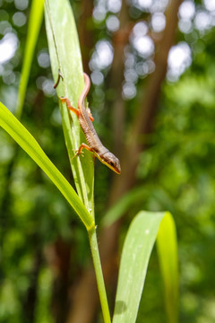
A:
{"label": "slim upright green stem below the joint of the leaves", "polygon": [[109,308],[107,303],[107,293],[106,293],[104,277],[102,274],[102,268],[101,268],[100,257],[99,257],[96,228],[94,227],[93,229],[91,229],[88,232],[88,234],[89,234],[90,249],[91,249],[93,265],[96,273],[96,279],[97,279],[97,284],[99,289],[99,299],[101,303],[101,310],[103,313],[104,322],[111,323],[110,313],[109,313]]}

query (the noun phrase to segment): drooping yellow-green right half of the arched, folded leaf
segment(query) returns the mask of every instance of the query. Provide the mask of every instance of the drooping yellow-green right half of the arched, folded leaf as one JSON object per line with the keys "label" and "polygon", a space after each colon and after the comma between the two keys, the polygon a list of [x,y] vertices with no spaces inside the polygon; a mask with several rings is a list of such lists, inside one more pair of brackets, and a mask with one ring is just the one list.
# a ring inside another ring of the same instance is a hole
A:
{"label": "drooping yellow-green right half of the arched, folded leaf", "polygon": [[159,226],[157,237],[159,266],[164,281],[165,304],[169,323],[178,319],[178,265],[176,225],[171,214],[167,213]]}

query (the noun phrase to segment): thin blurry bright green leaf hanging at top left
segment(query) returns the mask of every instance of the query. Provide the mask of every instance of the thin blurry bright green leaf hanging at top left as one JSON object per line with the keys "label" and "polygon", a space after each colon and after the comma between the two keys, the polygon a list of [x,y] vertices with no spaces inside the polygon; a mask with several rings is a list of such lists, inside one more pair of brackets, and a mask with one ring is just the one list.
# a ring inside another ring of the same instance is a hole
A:
{"label": "thin blurry bright green leaf hanging at top left", "polygon": [[38,40],[39,30],[43,18],[44,0],[33,0],[30,8],[30,22],[28,27],[28,35],[26,47],[24,51],[21,82],[18,93],[18,100],[15,115],[17,118],[22,116],[22,108],[26,93],[27,84],[29,82],[30,66],[34,54],[34,49]]}

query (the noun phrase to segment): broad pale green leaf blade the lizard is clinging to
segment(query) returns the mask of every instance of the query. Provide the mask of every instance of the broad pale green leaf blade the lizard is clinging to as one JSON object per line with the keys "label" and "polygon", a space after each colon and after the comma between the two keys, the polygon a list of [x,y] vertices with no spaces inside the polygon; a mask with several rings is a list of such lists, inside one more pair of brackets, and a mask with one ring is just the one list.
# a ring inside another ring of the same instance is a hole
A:
{"label": "broad pale green leaf blade the lizard is clinging to", "polygon": [[[57,95],[67,97],[71,100],[73,107],[77,108],[84,83],[82,56],[71,5],[67,0],[46,1],[45,13],[48,48],[55,82],[58,69],[64,77],[64,81],[61,80],[56,88]],[[92,156],[89,152],[84,152],[83,157],[73,158],[74,151],[86,139],[77,117],[61,103],[60,108],[74,182],[84,205],[93,216],[94,164]]]}

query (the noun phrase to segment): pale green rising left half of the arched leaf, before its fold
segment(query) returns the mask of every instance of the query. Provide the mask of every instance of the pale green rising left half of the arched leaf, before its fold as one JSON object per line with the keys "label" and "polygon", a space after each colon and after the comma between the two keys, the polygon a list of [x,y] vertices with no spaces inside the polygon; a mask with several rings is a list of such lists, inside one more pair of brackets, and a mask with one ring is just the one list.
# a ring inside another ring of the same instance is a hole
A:
{"label": "pale green rising left half of the arched leaf, before its fold", "polygon": [[166,214],[140,212],[130,225],[120,262],[113,323],[136,321],[150,253]]}

